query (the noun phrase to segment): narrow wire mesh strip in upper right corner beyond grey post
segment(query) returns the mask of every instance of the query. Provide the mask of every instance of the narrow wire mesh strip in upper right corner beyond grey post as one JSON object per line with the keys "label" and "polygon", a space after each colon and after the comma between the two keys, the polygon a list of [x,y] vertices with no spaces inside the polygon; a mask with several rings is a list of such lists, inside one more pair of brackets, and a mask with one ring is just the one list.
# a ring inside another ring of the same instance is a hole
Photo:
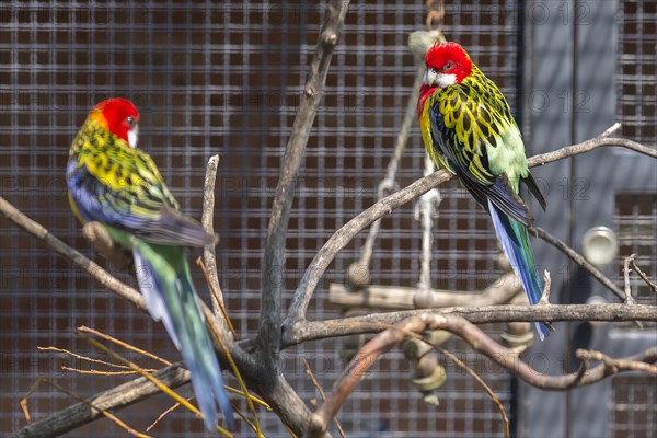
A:
{"label": "narrow wire mesh strip in upper right corner beyond grey post", "polygon": [[619,102],[622,132],[657,146],[657,3],[621,1],[619,14]]}

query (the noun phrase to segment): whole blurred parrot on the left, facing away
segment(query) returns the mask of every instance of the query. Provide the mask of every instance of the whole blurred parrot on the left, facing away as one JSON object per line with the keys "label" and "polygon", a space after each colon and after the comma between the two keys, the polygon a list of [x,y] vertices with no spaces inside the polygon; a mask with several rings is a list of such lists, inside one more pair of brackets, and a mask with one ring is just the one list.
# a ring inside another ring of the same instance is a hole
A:
{"label": "whole blurred parrot on the left, facing away", "polygon": [[162,321],[192,372],[206,428],[216,430],[216,403],[232,428],[221,369],[184,252],[216,238],[178,211],[155,163],[137,149],[138,123],[139,112],[125,99],[110,99],[91,110],[71,145],[66,171],[71,209],[82,223],[104,224],[132,253],[148,310]]}

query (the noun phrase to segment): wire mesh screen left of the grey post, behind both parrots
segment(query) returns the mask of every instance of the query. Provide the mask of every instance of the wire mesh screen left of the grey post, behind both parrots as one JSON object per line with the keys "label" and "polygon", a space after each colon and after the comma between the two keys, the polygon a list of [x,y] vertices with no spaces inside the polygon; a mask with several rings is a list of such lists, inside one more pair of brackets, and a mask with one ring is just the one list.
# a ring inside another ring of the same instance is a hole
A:
{"label": "wire mesh screen left of the grey post, behind both parrots", "polygon": [[[522,37],[514,1],[446,4],[448,38],[473,59],[520,107],[519,48]],[[182,209],[200,216],[207,159],[221,155],[216,231],[219,276],[239,336],[254,335],[260,316],[262,262],[268,211],[287,137],[316,43],[323,5],[306,2],[4,2],[0,4],[0,178],[2,196],[49,231],[99,263],[69,211],[64,180],[68,147],[91,106],[108,96],[132,100],[141,112],[141,145],[158,163]],[[406,48],[410,32],[425,23],[424,1],[356,2],[333,57],[325,97],[309,141],[287,240],[286,299],[325,240],[377,196],[392,152],[418,60]],[[400,185],[422,176],[424,147],[413,129],[401,163]],[[496,272],[497,247],[485,214],[456,184],[434,230],[433,286],[479,290]],[[161,324],[104,290],[80,269],[47,251],[5,220],[0,228],[1,285],[0,434],[25,424],[19,400],[38,376],[81,396],[130,377],[89,376],[90,365],[57,346],[107,360],[69,331],[88,325],[136,346],[180,360]],[[309,310],[313,319],[338,316],[326,306],[330,281],[346,270],[362,244],[360,235],[334,262]],[[383,221],[372,260],[372,283],[415,286],[419,277],[419,224],[412,206]],[[198,254],[191,254],[197,256]],[[131,276],[108,267],[124,281]],[[194,276],[198,286],[203,279]],[[199,287],[207,299],[207,291]],[[343,369],[342,342],[316,342],[283,355],[283,370],[300,395],[318,395],[306,376],[310,361],[324,388]],[[510,380],[461,354],[497,391],[509,412]],[[461,353],[459,353],[461,351]],[[159,364],[122,350],[145,367]],[[402,354],[385,356],[344,406],[339,419],[351,433],[403,436],[488,437],[502,420],[487,395],[464,373],[448,367],[438,408],[410,384]],[[191,395],[189,389],[182,389]],[[30,396],[32,418],[74,401],[42,384]],[[172,402],[164,395],[118,413],[143,430]],[[262,413],[267,436],[286,436]],[[71,436],[116,436],[125,430],[103,419]],[[201,436],[203,422],[176,410],[151,431]]]}

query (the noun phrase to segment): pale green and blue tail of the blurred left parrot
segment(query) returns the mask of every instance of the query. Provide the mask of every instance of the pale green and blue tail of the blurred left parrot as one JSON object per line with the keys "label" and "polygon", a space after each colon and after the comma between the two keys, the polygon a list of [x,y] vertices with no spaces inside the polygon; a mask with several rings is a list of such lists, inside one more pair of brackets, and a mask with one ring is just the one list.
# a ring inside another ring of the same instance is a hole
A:
{"label": "pale green and blue tail of the blurred left parrot", "polygon": [[206,428],[216,430],[218,403],[232,429],[234,418],[221,368],[196,301],[198,298],[183,249],[135,239],[132,250],[139,289],[151,316],[162,321],[192,372],[192,385]]}

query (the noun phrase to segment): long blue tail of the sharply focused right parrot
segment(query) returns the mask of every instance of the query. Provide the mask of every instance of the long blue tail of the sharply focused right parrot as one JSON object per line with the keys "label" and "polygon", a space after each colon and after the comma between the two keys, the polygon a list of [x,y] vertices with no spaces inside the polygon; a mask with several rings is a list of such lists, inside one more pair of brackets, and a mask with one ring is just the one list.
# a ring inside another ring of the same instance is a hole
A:
{"label": "long blue tail of the sharply focused right parrot", "polygon": [[[502,242],[514,272],[522,281],[529,303],[538,304],[543,293],[543,284],[533,258],[527,227],[502,212],[491,200],[488,200],[488,210],[493,218],[497,239]],[[548,326],[540,322],[537,322],[535,326],[539,337],[543,341],[550,334]]]}

